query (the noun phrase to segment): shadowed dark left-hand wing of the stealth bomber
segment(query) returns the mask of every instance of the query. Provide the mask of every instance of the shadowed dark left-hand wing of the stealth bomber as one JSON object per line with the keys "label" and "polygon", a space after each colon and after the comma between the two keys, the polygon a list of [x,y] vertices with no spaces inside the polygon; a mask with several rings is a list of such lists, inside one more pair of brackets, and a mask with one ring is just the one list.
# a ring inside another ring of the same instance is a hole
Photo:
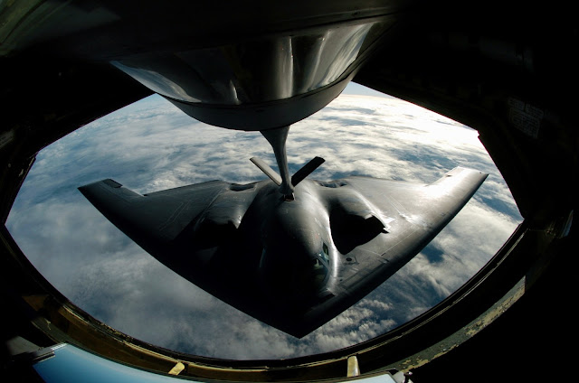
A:
{"label": "shadowed dark left-hand wing of the stealth bomber", "polygon": [[[242,219],[272,182],[221,181],[141,195],[112,180],[79,190],[117,228],[178,275],[227,304],[261,307],[254,275],[261,251],[243,240]],[[256,254],[258,258],[251,257]],[[253,313],[256,309],[251,311]]]}

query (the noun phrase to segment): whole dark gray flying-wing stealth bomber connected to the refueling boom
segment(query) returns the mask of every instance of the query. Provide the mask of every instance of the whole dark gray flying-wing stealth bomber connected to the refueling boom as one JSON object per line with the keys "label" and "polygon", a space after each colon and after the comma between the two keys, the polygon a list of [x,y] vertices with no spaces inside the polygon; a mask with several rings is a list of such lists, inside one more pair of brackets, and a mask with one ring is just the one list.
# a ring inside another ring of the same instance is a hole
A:
{"label": "whole dark gray flying-wing stealth bomber connected to the refueling boom", "polygon": [[281,176],[252,161],[271,180],[202,182],[144,195],[109,179],[79,189],[177,274],[301,338],[415,257],[488,175],[457,167],[432,184],[305,179],[323,162],[316,157],[289,179],[285,148],[268,140],[282,154]]}

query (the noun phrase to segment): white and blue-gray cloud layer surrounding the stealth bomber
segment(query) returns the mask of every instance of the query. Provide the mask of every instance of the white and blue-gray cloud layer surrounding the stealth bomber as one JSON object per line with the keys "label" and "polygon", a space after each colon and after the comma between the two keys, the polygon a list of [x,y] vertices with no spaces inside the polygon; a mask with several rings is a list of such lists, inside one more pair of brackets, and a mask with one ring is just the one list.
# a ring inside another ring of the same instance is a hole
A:
{"label": "white and blue-gray cloud layer surrounding the stealth bomber", "polygon": [[473,276],[521,220],[475,131],[395,98],[340,96],[292,126],[288,154],[291,172],[324,157],[310,176],[318,180],[356,174],[429,183],[458,165],[490,175],[413,261],[301,340],[176,276],[76,190],[103,178],[141,193],[214,179],[259,181],[264,175],[248,159],[275,163],[259,133],[205,126],[162,98],[147,98],[45,148],[7,227],[52,285],[110,326],[169,349],[267,359],[347,347],[423,313]]}

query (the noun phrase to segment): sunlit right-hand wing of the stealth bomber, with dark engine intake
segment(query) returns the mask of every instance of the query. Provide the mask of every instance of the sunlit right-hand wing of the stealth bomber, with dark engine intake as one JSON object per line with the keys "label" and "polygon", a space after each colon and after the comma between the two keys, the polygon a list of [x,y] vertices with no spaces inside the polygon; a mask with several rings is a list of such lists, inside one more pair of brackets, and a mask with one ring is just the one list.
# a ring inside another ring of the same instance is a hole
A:
{"label": "sunlit right-hand wing of the stealth bomber, with dark engine intake", "polygon": [[[431,184],[370,177],[319,182],[337,248],[330,296],[292,331],[303,336],[393,276],[470,201],[488,174],[457,167]],[[289,319],[288,322],[291,322]]]}

